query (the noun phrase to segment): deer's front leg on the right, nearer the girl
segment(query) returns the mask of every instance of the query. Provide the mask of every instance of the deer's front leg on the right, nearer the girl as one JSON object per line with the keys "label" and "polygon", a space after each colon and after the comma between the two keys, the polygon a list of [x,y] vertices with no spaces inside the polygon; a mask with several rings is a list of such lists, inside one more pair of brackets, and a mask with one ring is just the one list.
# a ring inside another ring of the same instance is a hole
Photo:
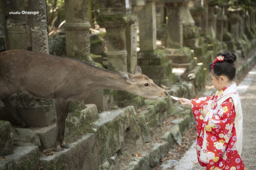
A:
{"label": "deer's front leg on the right, nearer the girl", "polygon": [[64,131],[65,131],[65,123],[66,123],[66,118],[69,112],[69,105],[70,102],[67,102],[65,109],[64,109],[64,117],[60,122],[60,129],[59,129],[59,142],[61,148],[69,148],[69,145],[64,142]]}

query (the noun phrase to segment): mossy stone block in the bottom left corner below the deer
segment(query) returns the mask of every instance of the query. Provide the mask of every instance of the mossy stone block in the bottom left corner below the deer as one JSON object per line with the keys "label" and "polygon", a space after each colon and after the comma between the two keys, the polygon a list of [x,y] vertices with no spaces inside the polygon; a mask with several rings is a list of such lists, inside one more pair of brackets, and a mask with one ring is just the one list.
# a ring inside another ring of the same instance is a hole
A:
{"label": "mossy stone block in the bottom left corner below the deer", "polygon": [[38,157],[38,146],[18,147],[5,160],[0,160],[0,170],[38,170]]}

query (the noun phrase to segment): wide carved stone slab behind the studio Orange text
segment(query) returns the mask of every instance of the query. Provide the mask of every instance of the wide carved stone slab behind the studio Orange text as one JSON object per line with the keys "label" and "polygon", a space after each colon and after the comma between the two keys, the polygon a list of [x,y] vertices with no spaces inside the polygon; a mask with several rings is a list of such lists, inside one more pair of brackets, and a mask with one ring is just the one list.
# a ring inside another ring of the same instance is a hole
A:
{"label": "wide carved stone slab behind the studio Orange text", "polygon": [[[6,42],[9,49],[49,53],[45,0],[33,0],[27,3],[24,3],[24,0],[3,0],[3,8],[8,35]],[[33,11],[36,14],[24,14],[24,11]]]}

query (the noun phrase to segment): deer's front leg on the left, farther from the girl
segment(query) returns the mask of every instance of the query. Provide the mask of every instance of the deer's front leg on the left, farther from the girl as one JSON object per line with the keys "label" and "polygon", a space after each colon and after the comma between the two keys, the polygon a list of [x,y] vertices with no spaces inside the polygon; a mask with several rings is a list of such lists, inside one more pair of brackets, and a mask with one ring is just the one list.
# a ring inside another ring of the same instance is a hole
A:
{"label": "deer's front leg on the left, farther from the girl", "polygon": [[57,118],[57,123],[56,123],[56,131],[55,131],[55,147],[57,151],[63,151],[62,148],[60,148],[59,145],[59,136],[60,136],[60,123],[65,119],[64,119],[64,112],[65,112],[65,106],[67,104],[67,101],[63,100],[63,99],[56,99],[55,100],[55,106],[56,106],[56,118]]}

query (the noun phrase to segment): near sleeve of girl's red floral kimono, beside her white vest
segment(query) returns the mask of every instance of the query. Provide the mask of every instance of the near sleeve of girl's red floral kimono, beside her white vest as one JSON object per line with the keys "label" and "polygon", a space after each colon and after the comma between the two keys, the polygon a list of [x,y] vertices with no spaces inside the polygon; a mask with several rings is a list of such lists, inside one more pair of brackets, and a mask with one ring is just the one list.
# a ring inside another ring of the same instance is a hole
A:
{"label": "near sleeve of girl's red floral kimono, beside her white vest", "polygon": [[212,133],[223,140],[223,143],[228,143],[231,137],[231,132],[234,126],[236,117],[235,107],[232,98],[223,102],[216,115],[208,112],[205,121],[205,130]]}

